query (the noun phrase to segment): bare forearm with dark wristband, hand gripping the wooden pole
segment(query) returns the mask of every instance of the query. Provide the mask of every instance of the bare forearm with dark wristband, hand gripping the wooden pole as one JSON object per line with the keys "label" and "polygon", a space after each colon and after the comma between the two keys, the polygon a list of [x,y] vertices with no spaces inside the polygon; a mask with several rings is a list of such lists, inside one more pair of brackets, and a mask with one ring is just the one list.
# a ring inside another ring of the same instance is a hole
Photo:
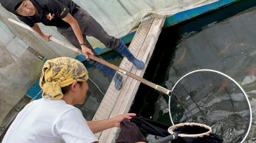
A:
{"label": "bare forearm with dark wristband, hand gripping the wooden pole", "polygon": [[[68,13],[67,16],[62,18],[62,20],[70,24],[70,26],[72,27],[72,29],[75,33],[76,38],[78,38],[79,43],[85,43],[83,40],[83,35],[81,32],[81,29],[79,27],[78,22],[75,20],[75,18],[70,13]],[[88,48],[86,45],[82,45],[81,48],[82,48],[82,51],[85,54],[86,58],[88,58],[87,53],[93,55],[92,50],[90,50],[90,48]]]}

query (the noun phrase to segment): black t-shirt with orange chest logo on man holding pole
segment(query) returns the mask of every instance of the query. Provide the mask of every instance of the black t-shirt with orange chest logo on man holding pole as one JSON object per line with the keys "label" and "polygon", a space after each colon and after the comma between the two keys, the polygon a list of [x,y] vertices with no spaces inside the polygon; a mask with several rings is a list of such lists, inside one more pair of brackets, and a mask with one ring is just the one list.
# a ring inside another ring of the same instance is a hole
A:
{"label": "black t-shirt with orange chest logo on man holding pole", "polygon": [[66,29],[69,24],[62,20],[68,13],[73,15],[79,7],[72,0],[30,0],[38,9],[39,16],[17,16],[19,20],[33,27],[35,23]]}

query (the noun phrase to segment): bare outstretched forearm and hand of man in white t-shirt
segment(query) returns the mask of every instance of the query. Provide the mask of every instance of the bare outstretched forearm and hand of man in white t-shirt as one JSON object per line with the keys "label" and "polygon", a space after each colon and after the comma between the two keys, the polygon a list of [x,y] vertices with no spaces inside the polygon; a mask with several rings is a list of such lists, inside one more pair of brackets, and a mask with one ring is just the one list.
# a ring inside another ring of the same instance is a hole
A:
{"label": "bare outstretched forearm and hand of man in white t-shirt", "polygon": [[132,119],[131,116],[136,116],[134,113],[127,113],[123,115],[116,116],[115,118],[100,120],[100,121],[87,121],[88,126],[92,130],[92,132],[98,133],[100,131],[110,129],[113,127],[120,127],[120,123],[123,119]]}

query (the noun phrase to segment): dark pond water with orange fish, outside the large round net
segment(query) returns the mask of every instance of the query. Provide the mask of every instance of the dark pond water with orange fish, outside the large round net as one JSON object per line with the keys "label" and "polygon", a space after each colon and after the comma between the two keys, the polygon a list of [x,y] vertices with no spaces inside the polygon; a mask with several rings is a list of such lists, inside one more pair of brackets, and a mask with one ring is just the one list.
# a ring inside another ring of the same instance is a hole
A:
{"label": "dark pond water with orange fish, outside the large round net", "polygon": [[[252,6],[256,6],[256,1],[243,0],[163,29],[144,75],[147,80],[171,90],[190,71],[213,69],[227,74],[242,86],[250,100],[252,127],[245,140],[248,143],[256,140],[256,8]],[[249,10],[243,12],[246,9]],[[239,12],[242,13],[237,14]],[[130,112],[146,118],[152,116],[154,120],[171,125],[169,114],[163,110],[165,103],[162,99],[168,103],[169,97],[141,84]],[[225,123],[214,125],[213,130],[219,130],[217,132],[227,139],[244,131],[231,131],[232,128],[224,131],[221,125]]]}

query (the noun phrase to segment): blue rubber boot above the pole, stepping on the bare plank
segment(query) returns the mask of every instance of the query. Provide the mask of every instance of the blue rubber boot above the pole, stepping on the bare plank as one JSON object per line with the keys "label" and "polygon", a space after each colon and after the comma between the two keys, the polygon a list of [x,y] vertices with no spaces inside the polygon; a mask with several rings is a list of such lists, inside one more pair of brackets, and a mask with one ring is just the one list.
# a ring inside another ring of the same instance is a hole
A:
{"label": "blue rubber boot above the pole, stepping on the bare plank", "polygon": [[116,52],[126,57],[130,62],[133,63],[134,66],[137,67],[137,69],[143,69],[145,66],[145,63],[141,60],[136,59],[133,54],[129,51],[126,45],[120,40],[119,47],[115,48]]}

